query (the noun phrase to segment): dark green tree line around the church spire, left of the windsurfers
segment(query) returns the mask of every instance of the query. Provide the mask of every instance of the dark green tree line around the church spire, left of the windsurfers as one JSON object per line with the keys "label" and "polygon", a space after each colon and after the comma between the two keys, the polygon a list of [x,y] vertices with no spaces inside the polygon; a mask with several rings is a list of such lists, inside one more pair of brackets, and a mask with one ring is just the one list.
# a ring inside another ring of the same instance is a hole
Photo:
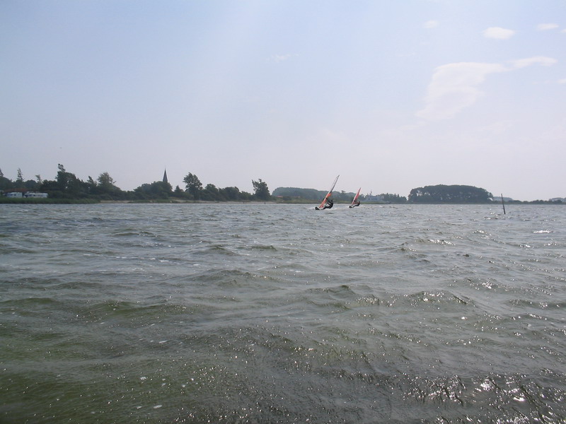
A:
{"label": "dark green tree line around the church spire, left of the windsurfers", "polygon": [[83,181],[72,172],[67,172],[60,163],[57,165],[55,179],[42,179],[35,175],[35,179],[25,180],[18,168],[18,177],[12,181],[4,177],[0,170],[0,192],[28,191],[47,193],[50,199],[91,199],[93,201],[151,201],[173,200],[181,201],[266,201],[271,198],[267,183],[258,179],[252,180],[254,193],[241,192],[238,187],[218,188],[214,184],[203,187],[202,182],[192,173],[188,173],[183,182],[185,189],[179,186],[171,187],[166,181],[156,181],[141,184],[132,191],[124,191],[117,187],[115,180],[108,172],[101,173],[97,179],[88,177]]}

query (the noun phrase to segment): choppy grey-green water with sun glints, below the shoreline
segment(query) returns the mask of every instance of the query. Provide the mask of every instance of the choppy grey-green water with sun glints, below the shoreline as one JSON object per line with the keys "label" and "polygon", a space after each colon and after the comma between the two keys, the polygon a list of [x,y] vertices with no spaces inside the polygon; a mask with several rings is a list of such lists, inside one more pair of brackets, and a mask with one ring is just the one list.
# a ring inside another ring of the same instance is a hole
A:
{"label": "choppy grey-green water with sun glints, below the shoreline", "polygon": [[562,206],[0,206],[0,423],[565,423]]}

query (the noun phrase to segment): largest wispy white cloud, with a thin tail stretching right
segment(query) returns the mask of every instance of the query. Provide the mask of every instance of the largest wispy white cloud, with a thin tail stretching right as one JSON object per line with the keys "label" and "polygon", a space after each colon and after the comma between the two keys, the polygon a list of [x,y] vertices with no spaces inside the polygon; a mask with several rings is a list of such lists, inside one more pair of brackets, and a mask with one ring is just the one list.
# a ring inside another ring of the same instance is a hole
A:
{"label": "largest wispy white cloud, with a thin tail stretching right", "polygon": [[417,117],[440,120],[450,119],[465,107],[473,105],[484,93],[478,88],[491,73],[501,73],[534,64],[550,66],[556,60],[550,57],[531,57],[512,61],[512,66],[461,62],[439,66],[434,70],[428,86],[426,106]]}

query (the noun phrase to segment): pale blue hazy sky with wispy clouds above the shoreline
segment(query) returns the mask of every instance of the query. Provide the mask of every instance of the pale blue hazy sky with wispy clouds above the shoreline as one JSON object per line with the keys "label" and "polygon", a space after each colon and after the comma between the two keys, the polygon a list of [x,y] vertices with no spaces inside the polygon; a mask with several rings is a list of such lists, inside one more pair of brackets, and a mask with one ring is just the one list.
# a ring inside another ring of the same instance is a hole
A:
{"label": "pale blue hazy sky with wispy clouds above the shoreline", "polygon": [[0,170],[566,196],[564,0],[3,0]]}

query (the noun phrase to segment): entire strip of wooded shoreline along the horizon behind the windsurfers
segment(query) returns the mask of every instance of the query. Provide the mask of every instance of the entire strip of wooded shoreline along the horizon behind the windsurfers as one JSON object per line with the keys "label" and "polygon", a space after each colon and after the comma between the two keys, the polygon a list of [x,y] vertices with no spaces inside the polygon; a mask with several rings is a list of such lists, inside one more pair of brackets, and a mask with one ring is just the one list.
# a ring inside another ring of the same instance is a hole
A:
{"label": "entire strip of wooded shoreline along the horizon behind the windsurfers", "polygon": [[[144,183],[133,191],[120,189],[108,172],[103,172],[98,179],[88,177],[87,181],[77,178],[72,172],[67,172],[64,166],[57,165],[57,177],[53,180],[24,179],[18,168],[15,181],[4,177],[0,170],[0,203],[91,203],[97,201],[276,201],[280,203],[310,203],[324,199],[325,190],[303,189],[299,187],[277,187],[270,194],[267,183],[258,179],[251,180],[254,193],[242,192],[238,187],[216,187],[214,184],[202,184],[197,175],[188,173],[183,182],[185,189],[179,186],[171,187],[167,172],[163,172],[161,181]],[[339,203],[350,202],[354,199],[353,192],[333,192],[333,199]],[[429,185],[417,187],[410,191],[407,197],[399,194],[365,194],[359,196],[365,204],[482,204],[493,201],[505,203],[526,204],[566,204],[566,199],[555,197],[548,201],[518,201],[509,198],[501,199],[487,192],[486,189],[469,185]]]}

